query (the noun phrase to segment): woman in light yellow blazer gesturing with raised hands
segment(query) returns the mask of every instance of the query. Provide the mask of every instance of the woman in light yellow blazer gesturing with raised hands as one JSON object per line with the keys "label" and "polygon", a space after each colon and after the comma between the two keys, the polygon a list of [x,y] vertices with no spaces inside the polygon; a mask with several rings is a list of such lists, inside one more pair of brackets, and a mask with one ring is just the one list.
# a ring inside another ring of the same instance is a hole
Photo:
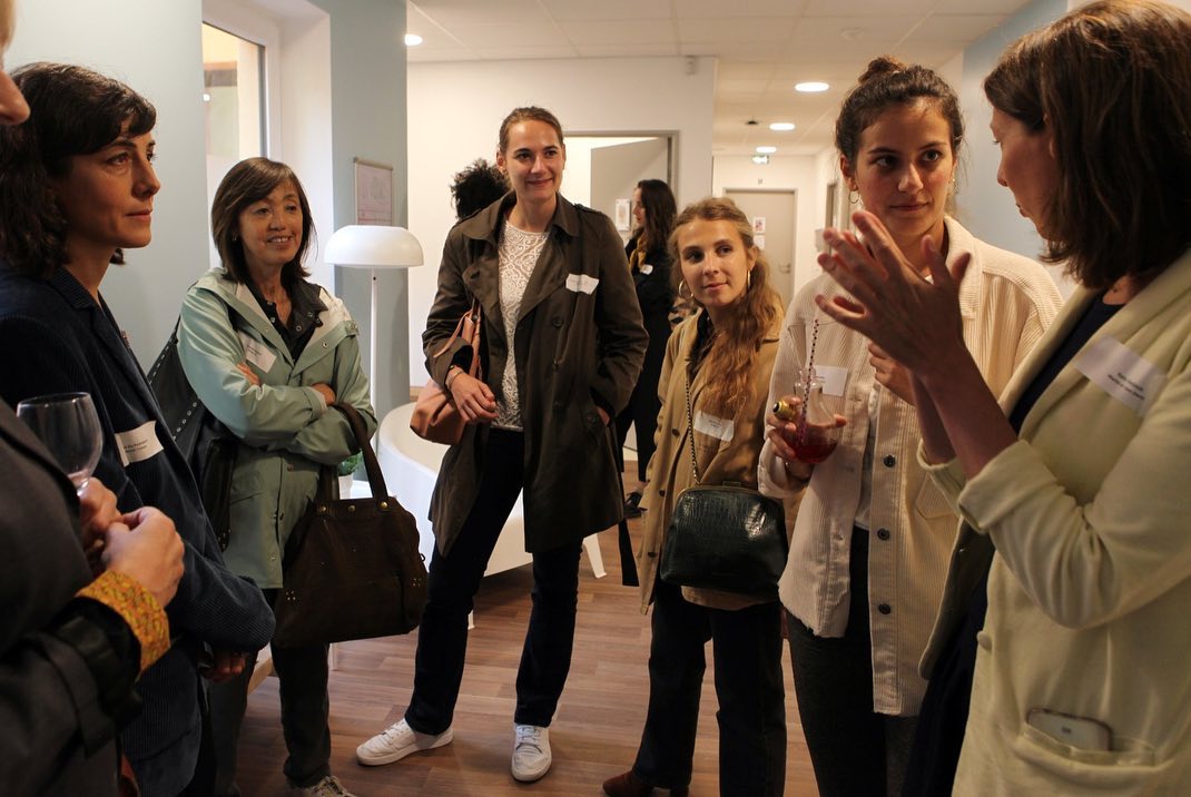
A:
{"label": "woman in light yellow blazer gesturing with raised hands", "polygon": [[818,300],[912,371],[921,457],[964,521],[923,661],[934,683],[974,650],[954,793],[1184,793],[1191,14],[1084,6],[984,88],[998,180],[1080,284],[1000,405],[961,342],[962,259],[935,251],[927,281],[858,213],[875,256],[829,231],[855,300]]}

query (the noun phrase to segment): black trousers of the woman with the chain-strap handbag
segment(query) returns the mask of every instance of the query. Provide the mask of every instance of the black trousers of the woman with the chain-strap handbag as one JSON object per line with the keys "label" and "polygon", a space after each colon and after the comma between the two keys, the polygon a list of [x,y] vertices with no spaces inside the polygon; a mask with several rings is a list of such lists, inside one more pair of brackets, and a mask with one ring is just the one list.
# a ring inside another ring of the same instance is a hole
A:
{"label": "black trousers of the woman with the chain-strap handbag", "polygon": [[719,698],[719,793],[781,795],[786,783],[786,705],[781,604],[724,611],[690,603],[679,587],[654,587],[649,708],[632,771],[674,789],[691,783],[699,693],[711,640]]}

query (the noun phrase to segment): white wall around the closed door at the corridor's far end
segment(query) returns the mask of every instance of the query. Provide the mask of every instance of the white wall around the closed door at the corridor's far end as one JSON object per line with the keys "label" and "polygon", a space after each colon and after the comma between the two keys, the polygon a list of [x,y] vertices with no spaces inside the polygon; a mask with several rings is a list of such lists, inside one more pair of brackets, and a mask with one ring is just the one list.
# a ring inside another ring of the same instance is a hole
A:
{"label": "white wall around the closed door at the corridor's far end", "polygon": [[798,192],[791,295],[818,274],[815,230],[823,226],[825,185],[825,181],[819,185],[816,158],[809,155],[771,155],[769,162],[763,166],[753,163],[748,155],[719,155],[715,158],[712,193],[717,197],[732,188]]}

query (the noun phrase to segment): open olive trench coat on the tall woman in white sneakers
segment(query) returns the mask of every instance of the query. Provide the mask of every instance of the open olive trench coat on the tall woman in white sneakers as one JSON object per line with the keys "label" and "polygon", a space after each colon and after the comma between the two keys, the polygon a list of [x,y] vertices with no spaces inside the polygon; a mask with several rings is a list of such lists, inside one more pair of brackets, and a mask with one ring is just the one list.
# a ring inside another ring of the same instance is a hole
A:
{"label": "open olive trench coat on the tall woman in white sneakers", "polygon": [[[480,362],[500,398],[509,363],[500,312],[498,244],[515,195],[460,222],[443,247],[438,293],[422,336],[426,369],[439,385],[453,365],[467,367],[460,340],[439,356],[460,317],[479,298],[484,312]],[[525,435],[522,493],[525,549],[550,550],[622,518],[624,497],[609,417],[629,401],[647,335],[621,237],[598,211],[561,195],[549,238],[520,303],[513,359]],[[469,425],[443,457],[430,503],[439,552],[448,553],[479,493],[488,426]]]}

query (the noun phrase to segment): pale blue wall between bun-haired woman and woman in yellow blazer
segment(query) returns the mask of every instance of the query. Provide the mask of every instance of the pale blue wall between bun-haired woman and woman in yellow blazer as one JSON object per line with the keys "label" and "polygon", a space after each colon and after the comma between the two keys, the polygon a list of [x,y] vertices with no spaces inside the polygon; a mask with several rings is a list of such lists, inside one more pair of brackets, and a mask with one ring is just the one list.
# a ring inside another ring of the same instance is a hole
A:
{"label": "pale blue wall between bun-haired woman and woman in yellow blazer", "polygon": [[[978,238],[1035,259],[1042,251],[1042,239],[1034,225],[1017,212],[1009,189],[997,183],[1000,152],[989,131],[992,108],[980,85],[1006,45],[1065,13],[1067,0],[1035,0],[964,52],[960,102],[967,125],[967,168],[956,197],[956,217]],[[1052,269],[1052,274],[1058,279],[1058,269]]]}

